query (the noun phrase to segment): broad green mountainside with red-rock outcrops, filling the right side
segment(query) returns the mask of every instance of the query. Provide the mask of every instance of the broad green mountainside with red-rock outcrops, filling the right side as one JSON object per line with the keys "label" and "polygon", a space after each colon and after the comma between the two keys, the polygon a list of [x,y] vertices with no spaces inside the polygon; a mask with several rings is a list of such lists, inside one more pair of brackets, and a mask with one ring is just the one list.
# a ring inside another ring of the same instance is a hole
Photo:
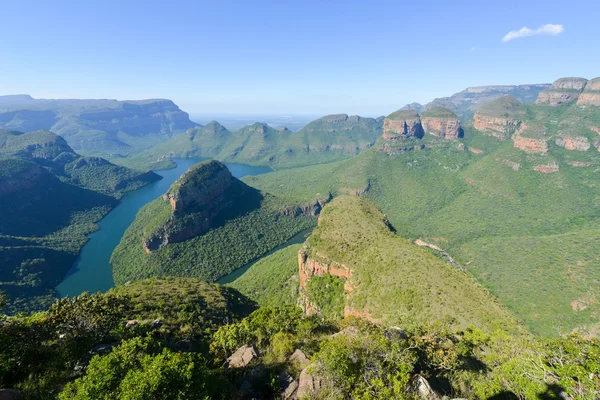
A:
{"label": "broad green mountainside with red-rock outcrops, filling the right side", "polygon": [[399,236],[442,249],[533,332],[598,335],[600,108],[504,96],[456,140],[416,137],[423,119],[393,113],[353,158],[244,182],[288,201],[362,194]]}

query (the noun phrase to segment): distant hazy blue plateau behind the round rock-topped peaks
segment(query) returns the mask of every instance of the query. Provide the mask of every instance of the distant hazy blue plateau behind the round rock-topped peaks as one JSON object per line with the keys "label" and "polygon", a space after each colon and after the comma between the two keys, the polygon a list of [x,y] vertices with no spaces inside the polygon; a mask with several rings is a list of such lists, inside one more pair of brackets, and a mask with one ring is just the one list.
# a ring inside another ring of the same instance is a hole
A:
{"label": "distant hazy blue plateau behind the round rock-topped peaks", "polygon": [[550,84],[535,85],[491,85],[469,87],[450,97],[434,99],[422,107],[423,110],[442,107],[454,111],[460,117],[471,118],[483,104],[499,97],[510,95],[520,102],[530,104],[536,101],[538,94]]}

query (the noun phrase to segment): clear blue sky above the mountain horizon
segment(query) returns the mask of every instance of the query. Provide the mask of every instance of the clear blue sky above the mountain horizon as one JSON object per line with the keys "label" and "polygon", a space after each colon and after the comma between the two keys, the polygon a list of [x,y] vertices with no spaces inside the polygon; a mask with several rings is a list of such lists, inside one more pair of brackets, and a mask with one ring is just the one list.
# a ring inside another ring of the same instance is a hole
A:
{"label": "clear blue sky above the mountain horizon", "polygon": [[382,115],[467,86],[600,76],[599,17],[598,0],[4,0],[0,94]]}

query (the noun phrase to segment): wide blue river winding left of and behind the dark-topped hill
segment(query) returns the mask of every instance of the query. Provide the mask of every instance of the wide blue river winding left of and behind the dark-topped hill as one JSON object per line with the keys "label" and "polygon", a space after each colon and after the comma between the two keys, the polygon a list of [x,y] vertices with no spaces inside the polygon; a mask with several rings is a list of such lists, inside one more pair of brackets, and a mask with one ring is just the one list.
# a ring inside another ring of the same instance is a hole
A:
{"label": "wide blue river winding left of and behind the dark-topped hill", "polygon": [[[92,233],[79,258],[65,279],[56,287],[59,295],[77,296],[83,292],[105,292],[115,284],[112,278],[110,256],[131,225],[140,208],[162,196],[169,186],[192,165],[203,161],[202,158],[182,158],[173,160],[177,167],[156,171],[162,179],[141,189],[126,193],[119,204],[98,222],[100,230]],[[269,167],[253,167],[245,164],[225,164],[236,178],[246,175],[260,175],[271,172]]]}

